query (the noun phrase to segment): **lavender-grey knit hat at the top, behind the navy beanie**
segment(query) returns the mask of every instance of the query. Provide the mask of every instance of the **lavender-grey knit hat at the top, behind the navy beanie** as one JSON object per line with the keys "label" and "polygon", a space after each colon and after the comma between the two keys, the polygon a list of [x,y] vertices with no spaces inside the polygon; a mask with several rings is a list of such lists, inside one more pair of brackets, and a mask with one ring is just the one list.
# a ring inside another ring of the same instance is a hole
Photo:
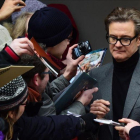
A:
{"label": "lavender-grey knit hat at the top, behind the navy beanie", "polygon": [[25,1],[26,6],[22,8],[19,12],[14,12],[12,14],[12,22],[13,24],[16,21],[16,18],[20,16],[24,12],[31,12],[34,13],[36,10],[39,10],[43,7],[46,7],[47,5],[42,3],[41,1],[38,0],[26,0]]}

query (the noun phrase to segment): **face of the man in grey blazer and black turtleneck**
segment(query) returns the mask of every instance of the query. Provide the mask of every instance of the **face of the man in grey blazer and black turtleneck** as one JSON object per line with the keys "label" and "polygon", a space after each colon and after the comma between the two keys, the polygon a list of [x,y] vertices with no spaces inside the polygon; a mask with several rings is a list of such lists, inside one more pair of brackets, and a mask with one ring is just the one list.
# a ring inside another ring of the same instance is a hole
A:
{"label": "face of the man in grey blazer and black turtleneck", "polygon": [[[112,22],[109,25],[109,36],[116,38],[133,38],[135,36],[135,26],[132,21],[128,22]],[[129,46],[123,46],[120,41],[116,44],[109,44],[110,52],[117,62],[128,60],[137,50],[140,45],[140,37],[131,41]]]}

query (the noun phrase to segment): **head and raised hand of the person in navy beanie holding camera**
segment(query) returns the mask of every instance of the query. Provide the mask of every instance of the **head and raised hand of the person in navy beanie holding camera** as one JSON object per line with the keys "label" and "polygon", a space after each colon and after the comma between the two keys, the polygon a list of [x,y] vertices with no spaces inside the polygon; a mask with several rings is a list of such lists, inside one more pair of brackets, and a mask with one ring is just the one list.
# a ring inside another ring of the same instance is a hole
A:
{"label": "head and raised hand of the person in navy beanie holding camera", "polygon": [[[72,24],[67,15],[58,9],[52,7],[44,7],[36,11],[28,24],[28,37],[32,37],[40,44],[52,60],[64,68],[65,65],[61,62],[62,54],[67,45],[69,45],[72,36]],[[63,76],[68,81],[75,76],[77,64],[83,60],[84,56],[76,60],[72,59],[73,48],[69,49],[71,54],[66,59],[66,70]]]}

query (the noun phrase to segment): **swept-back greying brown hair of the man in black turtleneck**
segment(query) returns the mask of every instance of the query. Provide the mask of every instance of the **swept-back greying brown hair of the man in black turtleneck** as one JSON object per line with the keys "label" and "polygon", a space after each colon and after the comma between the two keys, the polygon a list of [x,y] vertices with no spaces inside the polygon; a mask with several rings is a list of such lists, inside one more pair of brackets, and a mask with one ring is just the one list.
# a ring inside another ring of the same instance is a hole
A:
{"label": "swept-back greying brown hair of the man in black turtleneck", "polygon": [[109,25],[112,22],[132,21],[135,25],[135,34],[140,34],[140,11],[134,8],[115,8],[105,18],[105,29],[109,33]]}

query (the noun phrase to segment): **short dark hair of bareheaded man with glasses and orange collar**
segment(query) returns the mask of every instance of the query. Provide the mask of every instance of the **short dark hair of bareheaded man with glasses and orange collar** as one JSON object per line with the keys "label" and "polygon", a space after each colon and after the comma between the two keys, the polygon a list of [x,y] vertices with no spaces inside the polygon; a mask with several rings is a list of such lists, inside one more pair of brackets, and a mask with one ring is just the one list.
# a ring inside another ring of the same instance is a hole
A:
{"label": "short dark hair of bareheaded man with glasses and orange collar", "polygon": [[29,84],[29,82],[36,73],[39,73],[41,79],[44,78],[44,74],[42,73],[45,71],[46,66],[41,62],[41,60],[36,55],[34,56],[30,56],[27,54],[23,55],[21,57],[19,64],[35,66],[33,69],[22,75],[23,79],[26,81],[27,84]]}

